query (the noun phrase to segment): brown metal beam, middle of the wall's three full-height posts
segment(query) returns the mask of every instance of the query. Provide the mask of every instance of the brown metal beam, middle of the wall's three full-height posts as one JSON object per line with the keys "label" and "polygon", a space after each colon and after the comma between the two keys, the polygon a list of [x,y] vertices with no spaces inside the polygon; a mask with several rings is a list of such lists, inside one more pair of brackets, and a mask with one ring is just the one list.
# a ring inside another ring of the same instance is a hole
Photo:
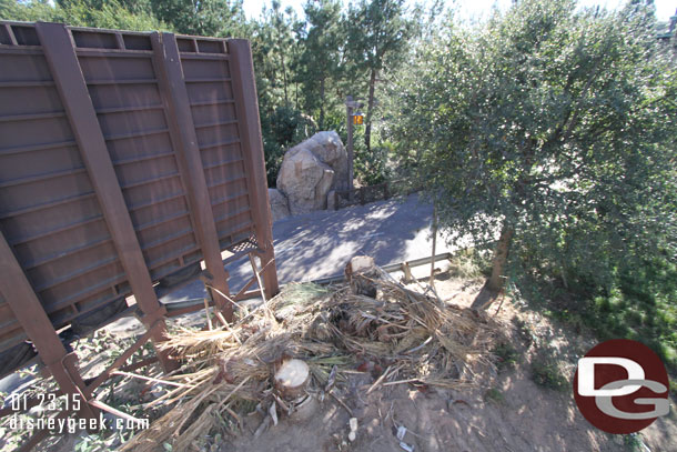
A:
{"label": "brown metal beam, middle of the wall's three full-height posts", "polygon": [[[152,33],[151,44],[160,92],[166,107],[170,135],[188,191],[193,227],[202,249],[206,271],[213,278],[210,284],[219,291],[230,294],[176,38],[173,33],[162,33],[162,39],[160,39],[160,34]],[[218,292],[212,293],[212,298],[225,320],[232,321],[233,305]]]}

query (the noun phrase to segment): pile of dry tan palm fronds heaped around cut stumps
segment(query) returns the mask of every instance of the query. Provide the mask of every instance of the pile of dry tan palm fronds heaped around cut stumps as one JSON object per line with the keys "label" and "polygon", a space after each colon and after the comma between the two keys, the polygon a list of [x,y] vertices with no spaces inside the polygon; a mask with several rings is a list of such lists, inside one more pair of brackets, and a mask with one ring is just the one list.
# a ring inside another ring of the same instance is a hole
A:
{"label": "pile of dry tan palm fronds heaped around cut stumps", "polygon": [[184,364],[163,378],[172,389],[152,402],[173,408],[125,450],[165,441],[183,450],[215,420],[242,426],[244,409],[275,403],[273,374],[289,358],[309,363],[320,392],[342,370],[372,372],[372,391],[398,383],[458,388],[473,383],[478,364],[491,365],[498,329],[485,314],[410,290],[380,269],[362,278],[374,297],[347,283],[289,284],[229,328],[173,334],[164,346]]}

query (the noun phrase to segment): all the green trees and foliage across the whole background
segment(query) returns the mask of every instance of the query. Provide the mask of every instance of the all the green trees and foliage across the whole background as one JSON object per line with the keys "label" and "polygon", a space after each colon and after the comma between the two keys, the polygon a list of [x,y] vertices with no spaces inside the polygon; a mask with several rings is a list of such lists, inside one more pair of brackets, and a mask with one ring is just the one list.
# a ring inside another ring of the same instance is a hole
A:
{"label": "all the green trees and foliage across the whole background", "polygon": [[355,170],[423,187],[443,227],[492,249],[523,298],[600,338],[634,338],[677,369],[677,70],[650,1],[618,11],[522,0],[463,23],[443,2],[0,0],[0,18],[252,42],[270,185],[320,130]]}

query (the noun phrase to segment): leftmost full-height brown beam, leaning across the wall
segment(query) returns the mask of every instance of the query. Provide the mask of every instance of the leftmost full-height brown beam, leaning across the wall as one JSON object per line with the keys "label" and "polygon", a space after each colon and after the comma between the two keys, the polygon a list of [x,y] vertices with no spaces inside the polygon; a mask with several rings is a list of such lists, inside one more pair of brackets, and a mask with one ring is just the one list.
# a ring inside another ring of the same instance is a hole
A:
{"label": "leftmost full-height brown beam, leaning across the wall", "polygon": [[[120,263],[127,273],[137,303],[144,313],[142,321],[146,328],[150,328],[163,317],[165,310],[160,305],[155,295],[153,282],[127,210],[122,189],[80,70],[70,31],[62,23],[44,22],[37,23],[36,30],[82,160],[97,192]],[[165,338],[165,327],[153,334],[153,341],[162,341]],[[165,371],[175,368],[176,363],[170,360],[168,352],[160,352],[160,350],[155,350],[155,352]]]}

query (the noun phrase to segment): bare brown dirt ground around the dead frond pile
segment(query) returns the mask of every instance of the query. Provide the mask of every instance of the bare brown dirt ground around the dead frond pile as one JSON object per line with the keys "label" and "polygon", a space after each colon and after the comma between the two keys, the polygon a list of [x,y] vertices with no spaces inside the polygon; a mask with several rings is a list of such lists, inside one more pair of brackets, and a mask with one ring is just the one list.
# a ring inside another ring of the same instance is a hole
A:
{"label": "bare brown dirt ground around the dead frond pile", "polygon": [[[469,307],[481,288],[481,280],[438,274],[435,287],[442,300]],[[410,289],[416,289],[416,283]],[[499,309],[498,309],[499,308]],[[677,451],[677,406],[670,414],[634,438],[606,434],[592,426],[578,412],[570,390],[576,360],[596,344],[585,332],[556,325],[539,313],[509,299],[497,302],[488,312],[504,325],[509,354],[497,370],[474,375],[474,388],[447,390],[416,388],[411,383],[380,385],[371,373],[352,371],[347,381],[334,389],[336,398],[326,396],[292,418],[281,415],[277,425],[254,432],[263,421],[254,413],[242,419],[238,434],[203,436],[192,450],[231,451]],[[201,314],[186,317],[183,324],[199,324]],[[109,327],[109,334],[132,337],[134,321]],[[547,354],[565,380],[557,389],[537,384],[534,363]],[[101,364],[94,360],[90,372]],[[146,384],[148,385],[148,384]],[[128,386],[131,393],[152,398],[143,383]],[[342,403],[340,403],[338,401]],[[350,412],[348,412],[350,411]],[[348,421],[356,418],[356,439],[348,441]],[[401,440],[397,431],[404,432]],[[75,450],[84,433],[68,435],[50,451]],[[410,449],[407,449],[410,448]],[[82,451],[115,448],[79,449]],[[158,451],[171,451],[163,444]],[[173,452],[173,451],[172,451]]]}

